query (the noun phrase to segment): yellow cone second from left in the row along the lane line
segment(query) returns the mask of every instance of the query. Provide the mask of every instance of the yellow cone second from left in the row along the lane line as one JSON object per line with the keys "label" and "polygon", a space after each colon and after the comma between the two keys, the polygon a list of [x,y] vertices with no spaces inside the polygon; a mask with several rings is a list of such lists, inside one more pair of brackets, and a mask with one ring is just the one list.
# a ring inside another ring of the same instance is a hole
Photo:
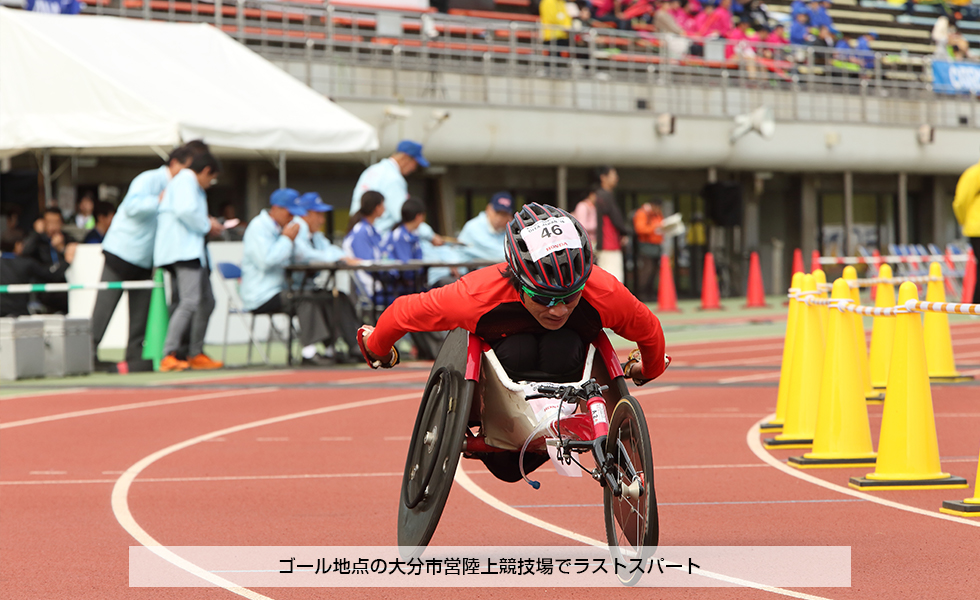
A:
{"label": "yellow cone second from left in the row along the lane line", "polygon": [[[815,292],[816,289],[813,275],[804,275],[800,292]],[[766,448],[809,448],[817,426],[817,403],[823,374],[823,330],[817,307],[802,299],[798,302],[786,419],[780,435],[763,441]]]}

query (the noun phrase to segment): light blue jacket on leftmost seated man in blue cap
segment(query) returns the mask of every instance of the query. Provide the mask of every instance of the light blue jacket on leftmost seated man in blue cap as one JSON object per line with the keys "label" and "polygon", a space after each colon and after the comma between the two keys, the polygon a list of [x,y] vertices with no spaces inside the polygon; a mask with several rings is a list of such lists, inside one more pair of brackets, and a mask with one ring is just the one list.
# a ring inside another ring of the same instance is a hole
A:
{"label": "light blue jacket on leftmost seated man in blue cap", "polygon": [[293,242],[282,235],[279,224],[263,210],[245,229],[242,246],[239,295],[245,310],[255,310],[285,287],[286,265],[292,260]]}

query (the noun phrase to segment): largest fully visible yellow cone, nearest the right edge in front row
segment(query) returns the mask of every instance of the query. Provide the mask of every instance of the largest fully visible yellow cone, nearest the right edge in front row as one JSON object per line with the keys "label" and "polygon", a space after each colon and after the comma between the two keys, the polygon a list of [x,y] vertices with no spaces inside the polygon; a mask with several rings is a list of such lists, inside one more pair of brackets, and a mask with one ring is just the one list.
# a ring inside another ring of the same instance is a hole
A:
{"label": "largest fully visible yellow cone, nearest the right edge in front row", "polygon": [[[899,288],[900,305],[918,299],[914,283],[906,281]],[[966,479],[943,473],[939,464],[922,317],[912,312],[894,318],[895,345],[881,416],[878,462],[874,473],[852,477],[849,485],[888,490],[966,487]]]}

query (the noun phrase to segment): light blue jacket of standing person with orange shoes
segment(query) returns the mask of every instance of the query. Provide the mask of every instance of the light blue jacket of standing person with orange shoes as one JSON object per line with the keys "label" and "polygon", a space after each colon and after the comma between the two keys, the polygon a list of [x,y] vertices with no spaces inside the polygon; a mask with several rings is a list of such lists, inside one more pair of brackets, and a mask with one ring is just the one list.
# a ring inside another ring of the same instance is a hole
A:
{"label": "light blue jacket of standing person with orange shoes", "polygon": [[207,266],[205,236],[211,231],[208,198],[197,183],[197,174],[184,169],[174,175],[157,209],[157,235],[153,265],[164,267],[185,260]]}

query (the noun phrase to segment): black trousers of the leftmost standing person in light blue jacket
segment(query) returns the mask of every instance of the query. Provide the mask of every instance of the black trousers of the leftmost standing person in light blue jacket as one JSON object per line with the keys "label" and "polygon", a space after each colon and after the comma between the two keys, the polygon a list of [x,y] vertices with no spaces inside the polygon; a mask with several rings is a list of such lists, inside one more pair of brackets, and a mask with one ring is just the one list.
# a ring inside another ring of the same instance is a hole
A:
{"label": "black trousers of the leftmost standing person in light blue jacket", "polygon": [[[153,279],[150,269],[138,267],[115,254],[105,254],[102,281],[145,281]],[[92,343],[98,350],[99,343],[109,327],[112,313],[119,304],[124,290],[99,290],[92,313]],[[152,290],[126,290],[129,293],[129,341],[126,344],[126,362],[143,359],[143,339],[146,336],[146,318],[150,313]]]}

